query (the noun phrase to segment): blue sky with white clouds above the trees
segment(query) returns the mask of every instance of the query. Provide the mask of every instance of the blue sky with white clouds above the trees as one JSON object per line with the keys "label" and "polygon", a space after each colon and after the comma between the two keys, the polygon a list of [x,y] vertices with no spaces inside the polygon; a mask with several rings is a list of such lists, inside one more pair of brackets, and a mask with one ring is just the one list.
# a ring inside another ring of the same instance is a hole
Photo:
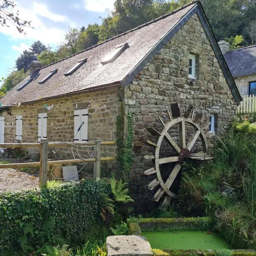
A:
{"label": "blue sky with white clouds above the trees", "polygon": [[26,28],[26,36],[14,26],[0,26],[0,78],[15,67],[15,59],[40,40],[53,49],[64,40],[69,26],[81,28],[89,23],[101,23],[114,0],[14,0],[20,18],[31,20],[35,29]]}

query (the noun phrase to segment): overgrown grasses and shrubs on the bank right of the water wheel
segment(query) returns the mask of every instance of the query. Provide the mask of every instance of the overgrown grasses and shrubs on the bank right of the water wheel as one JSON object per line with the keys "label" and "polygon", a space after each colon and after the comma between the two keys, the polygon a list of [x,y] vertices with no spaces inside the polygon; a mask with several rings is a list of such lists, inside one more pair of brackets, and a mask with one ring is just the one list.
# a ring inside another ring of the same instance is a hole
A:
{"label": "overgrown grasses and shrubs on the bank right of the water wheel", "polygon": [[183,166],[181,215],[211,215],[215,228],[236,248],[256,249],[256,135],[247,121],[234,123],[215,141],[215,159]]}

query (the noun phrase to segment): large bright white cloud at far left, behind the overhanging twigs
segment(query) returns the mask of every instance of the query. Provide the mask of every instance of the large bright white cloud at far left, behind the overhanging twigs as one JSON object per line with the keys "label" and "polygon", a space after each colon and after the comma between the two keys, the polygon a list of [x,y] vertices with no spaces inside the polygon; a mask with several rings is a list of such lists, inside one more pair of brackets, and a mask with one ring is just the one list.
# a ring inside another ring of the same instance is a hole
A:
{"label": "large bright white cloud at far left, behind the overhanging twigs", "polygon": [[31,25],[34,27],[34,29],[28,27],[24,28],[26,35],[18,32],[13,24],[8,24],[9,27],[0,26],[0,32],[9,36],[12,40],[40,40],[44,44],[57,44],[57,42],[62,41],[64,39],[65,30],[59,29],[57,25],[56,27],[45,26],[38,16],[41,8],[42,12],[40,16],[42,17],[48,17],[54,21],[66,21],[66,17],[55,15],[47,10],[47,6],[42,6],[43,5],[34,2],[32,9],[23,8],[21,6],[16,7],[19,10],[19,17],[23,20],[31,20]]}

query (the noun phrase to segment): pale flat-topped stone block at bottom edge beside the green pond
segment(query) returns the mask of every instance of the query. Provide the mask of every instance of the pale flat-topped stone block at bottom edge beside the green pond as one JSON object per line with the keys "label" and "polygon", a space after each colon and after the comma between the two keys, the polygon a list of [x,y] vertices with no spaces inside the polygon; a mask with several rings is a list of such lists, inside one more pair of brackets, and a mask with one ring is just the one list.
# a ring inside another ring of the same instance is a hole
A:
{"label": "pale flat-topped stone block at bottom edge beside the green pond", "polygon": [[143,236],[108,236],[108,256],[152,256],[151,246]]}

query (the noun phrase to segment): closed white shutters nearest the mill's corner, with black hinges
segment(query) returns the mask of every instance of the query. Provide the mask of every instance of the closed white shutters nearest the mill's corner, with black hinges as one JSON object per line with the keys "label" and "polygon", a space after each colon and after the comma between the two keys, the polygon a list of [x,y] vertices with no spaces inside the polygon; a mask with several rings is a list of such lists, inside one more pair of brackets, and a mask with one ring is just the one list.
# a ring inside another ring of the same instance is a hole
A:
{"label": "closed white shutters nearest the mill's corner, with black hinges", "polygon": [[74,142],[88,141],[88,109],[74,111]]}

